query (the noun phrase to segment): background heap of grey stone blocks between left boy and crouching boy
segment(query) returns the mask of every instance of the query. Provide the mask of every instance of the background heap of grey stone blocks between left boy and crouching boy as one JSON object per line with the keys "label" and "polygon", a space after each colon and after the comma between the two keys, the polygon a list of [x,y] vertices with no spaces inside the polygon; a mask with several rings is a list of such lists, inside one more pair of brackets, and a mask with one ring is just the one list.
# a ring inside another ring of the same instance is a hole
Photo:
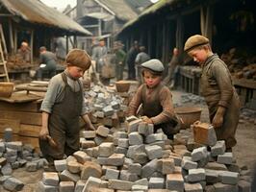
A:
{"label": "background heap of grey stone blocks between left boy and crouching boy", "polygon": [[85,98],[92,123],[117,127],[124,120],[127,106],[123,105],[123,98],[115,90],[94,85],[90,91],[85,92]]}

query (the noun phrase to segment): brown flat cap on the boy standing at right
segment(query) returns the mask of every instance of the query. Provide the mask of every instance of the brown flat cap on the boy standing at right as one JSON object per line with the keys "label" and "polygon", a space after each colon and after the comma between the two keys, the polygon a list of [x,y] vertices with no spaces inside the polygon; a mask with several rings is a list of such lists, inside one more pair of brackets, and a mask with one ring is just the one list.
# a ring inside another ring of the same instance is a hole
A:
{"label": "brown flat cap on the boy standing at right", "polygon": [[194,35],[188,38],[188,40],[185,43],[184,46],[184,51],[189,52],[193,48],[200,46],[200,45],[205,45],[209,43],[209,39],[205,36],[200,36],[200,35]]}

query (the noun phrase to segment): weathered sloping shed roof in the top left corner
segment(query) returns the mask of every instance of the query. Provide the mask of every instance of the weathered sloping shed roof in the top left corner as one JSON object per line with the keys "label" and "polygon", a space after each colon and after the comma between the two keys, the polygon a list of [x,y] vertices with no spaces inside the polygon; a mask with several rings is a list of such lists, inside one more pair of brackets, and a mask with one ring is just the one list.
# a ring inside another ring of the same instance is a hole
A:
{"label": "weathered sloping shed roof in the top left corner", "polygon": [[28,22],[60,28],[72,34],[91,36],[88,30],[70,17],[47,7],[39,0],[0,0],[0,2],[13,15],[19,16]]}

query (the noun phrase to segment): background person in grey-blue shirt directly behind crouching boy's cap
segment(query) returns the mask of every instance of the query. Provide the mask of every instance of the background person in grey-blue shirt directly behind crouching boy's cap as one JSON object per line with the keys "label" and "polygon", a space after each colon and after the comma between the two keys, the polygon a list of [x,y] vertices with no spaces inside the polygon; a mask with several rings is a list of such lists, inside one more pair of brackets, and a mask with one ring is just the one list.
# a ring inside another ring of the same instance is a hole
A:
{"label": "background person in grey-blue shirt directly behind crouching boy's cap", "polygon": [[147,53],[145,53],[145,46],[140,46],[139,48],[140,53],[137,55],[135,59],[136,68],[137,68],[137,79],[139,81],[139,84],[142,82],[142,76],[141,76],[141,64],[147,60],[150,60],[150,57]]}

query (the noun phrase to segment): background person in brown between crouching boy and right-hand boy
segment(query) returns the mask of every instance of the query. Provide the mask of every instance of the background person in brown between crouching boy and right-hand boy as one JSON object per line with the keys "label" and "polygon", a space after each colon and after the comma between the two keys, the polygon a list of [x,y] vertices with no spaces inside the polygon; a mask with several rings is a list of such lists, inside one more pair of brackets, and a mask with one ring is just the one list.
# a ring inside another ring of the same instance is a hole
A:
{"label": "background person in brown between crouching boy and right-hand boy", "polygon": [[164,80],[164,83],[169,88],[173,88],[175,86],[175,82],[177,80],[177,73],[179,69],[179,63],[179,50],[175,47],[172,50],[172,57],[168,63],[167,76]]}

